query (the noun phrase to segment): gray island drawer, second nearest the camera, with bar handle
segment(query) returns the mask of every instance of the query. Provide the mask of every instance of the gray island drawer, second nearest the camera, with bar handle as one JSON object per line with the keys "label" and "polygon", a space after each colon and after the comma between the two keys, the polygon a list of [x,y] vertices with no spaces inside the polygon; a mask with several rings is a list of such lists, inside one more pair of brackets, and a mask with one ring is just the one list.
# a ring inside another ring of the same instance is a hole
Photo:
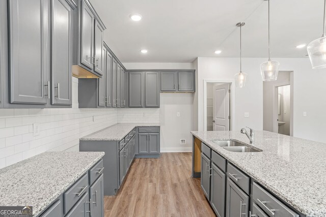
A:
{"label": "gray island drawer, second nearest the camera, with bar handle", "polygon": [[232,164],[227,166],[227,174],[239,187],[249,195],[250,178]]}

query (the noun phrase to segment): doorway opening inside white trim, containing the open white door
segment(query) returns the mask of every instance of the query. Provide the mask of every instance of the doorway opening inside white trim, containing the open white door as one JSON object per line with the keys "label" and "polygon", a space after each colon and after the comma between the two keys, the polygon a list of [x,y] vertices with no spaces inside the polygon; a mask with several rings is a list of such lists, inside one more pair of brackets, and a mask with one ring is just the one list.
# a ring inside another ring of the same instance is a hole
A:
{"label": "doorway opening inside white trim, containing the open white door", "polygon": [[205,118],[207,131],[231,130],[231,92],[229,82],[207,82]]}

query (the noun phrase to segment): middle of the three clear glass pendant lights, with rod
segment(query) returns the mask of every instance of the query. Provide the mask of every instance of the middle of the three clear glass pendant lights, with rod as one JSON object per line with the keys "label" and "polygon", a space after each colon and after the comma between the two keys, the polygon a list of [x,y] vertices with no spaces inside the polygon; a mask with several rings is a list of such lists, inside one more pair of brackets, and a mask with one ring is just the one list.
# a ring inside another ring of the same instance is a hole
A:
{"label": "middle of the three clear glass pendant lights, with rod", "polygon": [[260,65],[260,72],[263,81],[275,81],[279,74],[280,63],[270,60],[270,6],[268,1],[268,61]]}

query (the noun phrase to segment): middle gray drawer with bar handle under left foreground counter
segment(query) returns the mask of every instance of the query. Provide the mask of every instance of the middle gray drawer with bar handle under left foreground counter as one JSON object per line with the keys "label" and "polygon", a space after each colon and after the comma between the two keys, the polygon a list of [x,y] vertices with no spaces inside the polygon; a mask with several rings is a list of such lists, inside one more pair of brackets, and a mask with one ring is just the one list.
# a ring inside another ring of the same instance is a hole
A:
{"label": "middle gray drawer with bar handle under left foreground counter", "polygon": [[88,173],[76,181],[64,194],[65,213],[67,213],[77,201],[88,192]]}

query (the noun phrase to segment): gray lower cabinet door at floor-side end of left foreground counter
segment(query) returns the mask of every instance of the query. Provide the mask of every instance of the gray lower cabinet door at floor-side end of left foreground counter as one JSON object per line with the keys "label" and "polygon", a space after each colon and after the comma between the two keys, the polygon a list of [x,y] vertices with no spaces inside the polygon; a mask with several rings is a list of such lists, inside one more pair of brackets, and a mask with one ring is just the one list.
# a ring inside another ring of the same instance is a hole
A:
{"label": "gray lower cabinet door at floor-side end of left foreground counter", "polygon": [[92,206],[92,216],[103,217],[104,207],[104,184],[103,184],[103,174],[91,185],[90,187],[90,201]]}

